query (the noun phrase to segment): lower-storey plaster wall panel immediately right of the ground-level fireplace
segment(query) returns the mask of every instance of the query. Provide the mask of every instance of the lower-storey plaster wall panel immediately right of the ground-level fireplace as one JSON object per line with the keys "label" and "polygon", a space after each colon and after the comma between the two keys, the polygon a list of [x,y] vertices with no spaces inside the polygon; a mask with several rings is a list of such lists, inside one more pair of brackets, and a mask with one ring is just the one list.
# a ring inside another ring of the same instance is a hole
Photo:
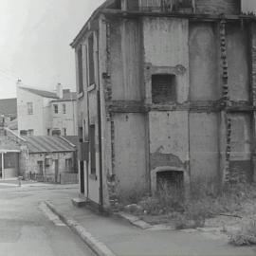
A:
{"label": "lower-storey plaster wall panel immediately right of the ground-level fireplace", "polygon": [[219,121],[215,113],[190,114],[190,164],[192,185],[214,182],[219,176]]}

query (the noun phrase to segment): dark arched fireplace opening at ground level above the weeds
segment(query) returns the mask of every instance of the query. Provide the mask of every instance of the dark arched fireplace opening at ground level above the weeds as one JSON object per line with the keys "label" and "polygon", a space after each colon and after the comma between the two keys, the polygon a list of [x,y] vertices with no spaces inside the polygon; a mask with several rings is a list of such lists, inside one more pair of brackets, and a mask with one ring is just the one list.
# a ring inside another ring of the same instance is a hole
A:
{"label": "dark arched fireplace opening at ground level above the weeds", "polygon": [[156,174],[157,192],[183,192],[184,174],[177,171],[165,171]]}

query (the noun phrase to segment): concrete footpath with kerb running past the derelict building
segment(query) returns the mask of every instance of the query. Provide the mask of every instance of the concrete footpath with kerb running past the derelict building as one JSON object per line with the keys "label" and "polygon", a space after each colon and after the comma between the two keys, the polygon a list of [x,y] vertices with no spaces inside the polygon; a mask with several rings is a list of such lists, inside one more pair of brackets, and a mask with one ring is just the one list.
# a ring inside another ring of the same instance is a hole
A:
{"label": "concrete footpath with kerb running past the derelict building", "polygon": [[118,217],[104,217],[85,208],[76,208],[71,199],[70,195],[70,198],[52,199],[49,203],[98,255],[256,255],[256,247],[233,247],[226,235],[195,230],[138,229]]}

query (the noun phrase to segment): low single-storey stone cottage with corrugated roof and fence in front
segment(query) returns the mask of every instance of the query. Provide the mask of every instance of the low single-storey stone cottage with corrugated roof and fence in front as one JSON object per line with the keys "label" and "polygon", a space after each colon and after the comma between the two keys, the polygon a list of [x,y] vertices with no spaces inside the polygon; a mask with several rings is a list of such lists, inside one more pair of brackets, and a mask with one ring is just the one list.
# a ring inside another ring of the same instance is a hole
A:
{"label": "low single-storey stone cottage with corrugated roof and fence in front", "polygon": [[0,126],[0,179],[77,183],[76,146],[64,137],[19,137]]}

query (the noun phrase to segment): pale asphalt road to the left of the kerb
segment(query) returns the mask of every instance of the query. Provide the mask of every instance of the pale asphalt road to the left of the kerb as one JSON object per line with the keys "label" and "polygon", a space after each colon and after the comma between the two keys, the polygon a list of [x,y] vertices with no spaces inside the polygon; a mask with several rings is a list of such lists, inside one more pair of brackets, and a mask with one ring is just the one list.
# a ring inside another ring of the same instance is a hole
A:
{"label": "pale asphalt road to the left of the kerb", "polygon": [[[74,190],[75,192],[75,190]],[[15,192],[0,183],[0,255],[94,256],[80,238],[44,208],[42,202],[64,190]]]}

